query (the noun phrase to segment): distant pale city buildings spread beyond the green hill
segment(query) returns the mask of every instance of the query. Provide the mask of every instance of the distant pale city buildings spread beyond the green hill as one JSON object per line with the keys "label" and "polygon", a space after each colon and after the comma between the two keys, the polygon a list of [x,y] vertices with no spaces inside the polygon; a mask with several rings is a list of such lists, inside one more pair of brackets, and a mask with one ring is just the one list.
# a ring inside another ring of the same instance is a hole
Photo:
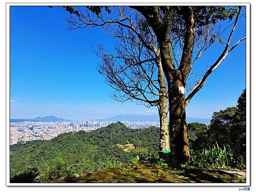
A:
{"label": "distant pale city buildings spread beyond the green hill", "polygon": [[[98,128],[105,127],[112,122],[12,122],[10,123],[10,145],[18,142],[26,142],[32,140],[50,140],[59,134],[77,131],[90,132]],[[160,127],[159,122],[130,122],[123,121],[129,128],[148,128],[152,126]]]}

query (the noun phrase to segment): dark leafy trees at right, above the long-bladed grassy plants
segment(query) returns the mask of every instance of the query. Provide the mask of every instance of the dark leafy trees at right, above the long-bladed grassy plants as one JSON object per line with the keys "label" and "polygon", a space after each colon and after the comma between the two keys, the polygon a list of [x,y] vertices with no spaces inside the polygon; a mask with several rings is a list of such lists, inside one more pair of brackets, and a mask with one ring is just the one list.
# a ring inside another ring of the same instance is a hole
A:
{"label": "dark leafy trees at right, above the long-bladed grassy plants", "polygon": [[[195,134],[192,140],[193,149],[202,149],[218,143],[229,145],[237,154],[246,152],[246,90],[238,99],[237,107],[214,112],[210,125],[201,133]],[[195,140],[193,140],[195,139]]]}

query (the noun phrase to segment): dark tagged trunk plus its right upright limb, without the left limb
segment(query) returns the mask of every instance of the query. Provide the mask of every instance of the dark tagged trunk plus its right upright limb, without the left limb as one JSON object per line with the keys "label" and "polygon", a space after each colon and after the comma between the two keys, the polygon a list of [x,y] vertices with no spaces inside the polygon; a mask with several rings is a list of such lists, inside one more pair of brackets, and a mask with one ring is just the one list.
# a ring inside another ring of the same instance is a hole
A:
{"label": "dark tagged trunk plus its right upright limb, without the left limb", "polygon": [[180,67],[177,70],[169,70],[169,75],[166,77],[169,93],[172,159],[178,161],[177,164],[187,164],[191,159],[186,129],[185,94],[179,93],[179,86],[185,89],[186,80],[191,70],[190,65],[195,39],[195,19],[192,7],[185,6],[183,8],[183,16],[186,24],[186,33]]}

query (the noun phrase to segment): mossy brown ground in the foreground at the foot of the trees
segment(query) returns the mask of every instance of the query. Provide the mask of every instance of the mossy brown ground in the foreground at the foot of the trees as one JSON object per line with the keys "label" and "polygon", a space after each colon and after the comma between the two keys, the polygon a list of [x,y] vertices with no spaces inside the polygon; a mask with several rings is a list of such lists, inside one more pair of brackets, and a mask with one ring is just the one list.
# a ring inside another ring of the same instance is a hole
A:
{"label": "mossy brown ground in the foreground at the foot of the trees", "polygon": [[245,174],[239,170],[210,170],[192,166],[171,169],[143,161],[118,169],[61,177],[50,183],[245,183]]}

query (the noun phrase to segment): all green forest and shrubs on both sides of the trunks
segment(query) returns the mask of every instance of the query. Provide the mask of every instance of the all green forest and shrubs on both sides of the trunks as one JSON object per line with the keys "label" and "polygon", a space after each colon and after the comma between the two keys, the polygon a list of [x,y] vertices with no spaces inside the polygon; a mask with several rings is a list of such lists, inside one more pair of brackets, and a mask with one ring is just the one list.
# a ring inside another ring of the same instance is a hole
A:
{"label": "all green forest and shrubs on both sides of the trunks", "polygon": [[[191,165],[211,169],[246,165],[246,90],[236,107],[214,112],[209,125],[187,125]],[[156,158],[160,129],[131,129],[121,122],[92,132],[60,134],[49,141],[11,145],[11,182],[49,182],[72,174],[86,174],[120,167],[139,159]],[[162,164],[161,164],[162,165]],[[169,164],[170,166],[170,164]]]}

